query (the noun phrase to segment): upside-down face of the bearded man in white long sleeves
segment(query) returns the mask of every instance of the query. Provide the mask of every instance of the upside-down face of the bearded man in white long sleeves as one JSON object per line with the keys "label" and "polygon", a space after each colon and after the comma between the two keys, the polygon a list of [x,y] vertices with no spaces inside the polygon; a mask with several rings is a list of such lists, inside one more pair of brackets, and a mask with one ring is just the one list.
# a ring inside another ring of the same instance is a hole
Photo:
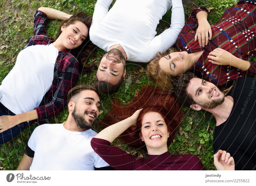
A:
{"label": "upside-down face of the bearded man in white long sleeves", "polygon": [[99,81],[116,85],[125,74],[125,58],[120,50],[113,48],[102,57],[96,76]]}

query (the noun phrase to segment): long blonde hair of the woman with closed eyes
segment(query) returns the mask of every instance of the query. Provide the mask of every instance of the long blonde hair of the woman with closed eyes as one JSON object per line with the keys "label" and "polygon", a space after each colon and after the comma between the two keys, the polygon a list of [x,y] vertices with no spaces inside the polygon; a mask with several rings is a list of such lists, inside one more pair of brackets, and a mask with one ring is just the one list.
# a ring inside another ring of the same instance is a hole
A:
{"label": "long blonde hair of the woman with closed eyes", "polygon": [[174,89],[174,82],[177,80],[177,78],[175,76],[171,76],[163,72],[159,67],[159,60],[162,57],[175,51],[176,50],[174,48],[171,48],[168,49],[168,51],[166,51],[164,54],[162,54],[161,52],[157,52],[156,58],[148,63],[146,69],[149,78],[155,81],[156,85],[164,92],[173,92],[172,89]]}

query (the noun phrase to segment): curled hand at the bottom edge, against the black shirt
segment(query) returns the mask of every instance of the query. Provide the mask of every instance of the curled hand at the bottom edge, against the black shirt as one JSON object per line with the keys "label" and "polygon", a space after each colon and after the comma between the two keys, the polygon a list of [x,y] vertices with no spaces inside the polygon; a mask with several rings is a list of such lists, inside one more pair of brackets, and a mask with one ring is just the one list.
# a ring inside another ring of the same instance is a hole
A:
{"label": "curled hand at the bottom edge, against the black shirt", "polygon": [[230,157],[230,154],[226,151],[218,150],[218,152],[213,155],[213,158],[217,170],[235,170],[234,158]]}

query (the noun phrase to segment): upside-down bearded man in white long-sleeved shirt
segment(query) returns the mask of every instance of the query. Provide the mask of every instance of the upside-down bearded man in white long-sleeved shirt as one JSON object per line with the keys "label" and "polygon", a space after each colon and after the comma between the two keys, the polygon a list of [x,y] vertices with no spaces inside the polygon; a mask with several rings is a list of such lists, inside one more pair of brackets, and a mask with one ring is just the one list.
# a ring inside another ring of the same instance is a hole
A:
{"label": "upside-down bearded man in white long-sleeved shirt", "polygon": [[[118,91],[126,74],[126,60],[147,63],[176,42],[184,26],[181,0],[98,0],[90,28],[90,40],[107,51],[95,76],[102,93]],[[156,27],[172,7],[171,25],[156,36]]]}

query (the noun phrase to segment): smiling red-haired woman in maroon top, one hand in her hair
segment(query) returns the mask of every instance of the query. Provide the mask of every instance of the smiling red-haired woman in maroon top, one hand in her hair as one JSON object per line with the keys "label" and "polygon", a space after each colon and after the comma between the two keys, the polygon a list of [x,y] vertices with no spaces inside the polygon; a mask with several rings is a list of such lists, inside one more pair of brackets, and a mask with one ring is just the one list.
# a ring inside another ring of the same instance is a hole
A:
{"label": "smiling red-haired woman in maroon top, one hand in her hair", "polygon": [[[102,120],[110,126],[92,138],[91,145],[116,170],[204,170],[197,156],[171,155],[168,152],[181,119],[182,111],[171,94],[147,86],[128,105],[112,105],[112,111]],[[146,147],[148,159],[137,158],[110,145],[118,136],[128,145]],[[217,156],[223,169],[223,162],[218,157],[227,160],[226,169],[234,169],[229,153],[223,151]]]}

